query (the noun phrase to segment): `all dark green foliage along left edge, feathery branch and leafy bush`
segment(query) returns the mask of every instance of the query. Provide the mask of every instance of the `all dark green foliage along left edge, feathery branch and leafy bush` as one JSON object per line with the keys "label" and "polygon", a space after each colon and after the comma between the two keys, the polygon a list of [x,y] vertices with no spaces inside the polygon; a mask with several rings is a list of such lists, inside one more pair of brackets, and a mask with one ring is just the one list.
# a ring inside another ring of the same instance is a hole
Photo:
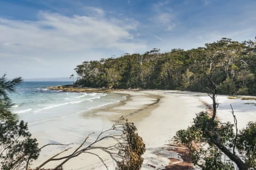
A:
{"label": "all dark green foliage along left edge, feathery branch and leafy bush", "polygon": [[15,120],[9,108],[13,105],[8,92],[14,92],[21,78],[8,81],[0,78],[0,167],[1,169],[26,169],[30,160],[38,158],[36,139],[31,138],[28,125]]}

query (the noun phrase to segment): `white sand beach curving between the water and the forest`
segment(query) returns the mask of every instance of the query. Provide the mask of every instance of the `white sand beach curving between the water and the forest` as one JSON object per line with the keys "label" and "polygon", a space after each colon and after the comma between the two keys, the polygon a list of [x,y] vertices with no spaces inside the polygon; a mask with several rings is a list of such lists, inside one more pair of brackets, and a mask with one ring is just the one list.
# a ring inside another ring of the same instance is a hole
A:
{"label": "white sand beach curving between the water and the forest", "polygon": [[[105,124],[105,127],[107,128],[113,121],[117,120],[118,117],[124,115],[130,122],[135,123],[139,135],[146,144],[146,152],[143,155],[144,162],[141,169],[164,169],[165,166],[170,163],[169,158],[181,159],[177,153],[166,150],[166,148],[170,147],[168,144],[170,144],[170,140],[175,132],[180,129],[186,129],[193,121],[196,113],[205,111],[205,106],[202,101],[211,104],[210,97],[208,97],[207,94],[198,92],[142,90],[116,91],[116,93],[128,95],[127,100],[121,101],[119,104],[95,109],[90,111],[90,113],[81,113],[79,116],[76,115],[66,119],[55,120],[55,122],[51,124],[43,123],[41,124],[41,128],[32,127],[34,137],[38,138],[39,142],[41,142],[41,139],[44,138],[46,132],[45,129],[41,131],[38,131],[38,129],[42,129],[43,127],[46,127],[47,129],[47,127],[49,128],[51,126],[51,132],[47,133],[51,133],[51,137],[55,141],[71,143],[75,140],[75,145],[72,147],[76,148],[79,145],[79,141],[83,140],[83,137],[79,136],[77,139],[71,139],[69,138],[69,134],[56,135],[54,133],[54,128],[60,128],[59,126],[63,126],[62,128],[64,128],[66,126],[65,128],[73,129],[74,133],[75,131],[82,130],[84,131],[85,138],[88,134],[87,132],[90,131],[90,126],[95,123],[93,121],[101,121],[100,123]],[[231,100],[227,99],[227,96],[218,96],[217,99],[220,103],[217,116],[222,121],[233,120],[230,107],[228,107],[229,104],[233,105],[234,112],[238,117],[238,128],[243,128],[248,121],[256,120],[256,114],[254,112],[255,105],[245,104],[255,103],[255,100]],[[83,117],[86,119],[91,118],[92,124],[85,125],[83,123]],[[95,117],[97,117],[97,119],[94,119]],[[70,131],[70,133],[73,132]],[[40,145],[44,145],[45,142],[46,141],[40,143]],[[103,145],[106,145],[106,143],[103,143]],[[59,147],[58,149],[54,149],[54,147],[50,148],[50,151],[49,148],[42,151],[41,157],[34,163],[33,167],[38,166],[43,160],[63,149],[63,147]],[[102,152],[97,153],[102,154]],[[68,152],[66,154],[68,154]],[[114,163],[109,160],[107,156],[103,156],[103,160],[106,161],[109,169],[114,169]],[[52,162],[45,167],[50,168],[57,164],[57,162]],[[82,154],[75,159],[71,159],[63,166],[63,168],[68,170],[104,169],[105,167],[97,157]]]}

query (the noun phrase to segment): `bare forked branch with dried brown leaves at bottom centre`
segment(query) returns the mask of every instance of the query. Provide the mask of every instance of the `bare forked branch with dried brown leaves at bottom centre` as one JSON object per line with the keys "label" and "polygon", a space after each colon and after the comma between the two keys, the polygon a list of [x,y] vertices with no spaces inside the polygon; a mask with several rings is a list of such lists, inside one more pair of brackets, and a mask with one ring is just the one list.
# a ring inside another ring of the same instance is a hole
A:
{"label": "bare forked branch with dried brown leaves at bottom centre", "polygon": [[[121,117],[110,129],[99,133],[98,137],[89,145],[86,146],[85,142],[89,139],[90,134],[72,154],[57,158],[62,152],[65,152],[70,148],[65,149],[59,154],[46,160],[36,169],[41,169],[47,163],[57,160],[61,161],[61,163],[53,169],[62,169],[62,166],[70,159],[81,154],[91,154],[98,157],[102,164],[108,169],[105,160],[103,160],[100,155],[95,154],[93,150],[101,150],[108,154],[116,163],[116,169],[118,170],[140,169],[143,162],[142,154],[145,152],[145,143],[136,131],[137,129],[133,123],[127,122],[126,118]],[[101,146],[98,144],[105,140],[111,140],[112,142],[108,146]]]}

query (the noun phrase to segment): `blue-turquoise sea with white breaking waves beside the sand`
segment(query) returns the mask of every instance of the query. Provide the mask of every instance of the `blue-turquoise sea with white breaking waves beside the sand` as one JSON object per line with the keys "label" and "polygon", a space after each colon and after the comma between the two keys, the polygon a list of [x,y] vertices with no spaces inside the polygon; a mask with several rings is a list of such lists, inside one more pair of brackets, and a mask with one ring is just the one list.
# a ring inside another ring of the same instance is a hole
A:
{"label": "blue-turquoise sea with white breaking waves beside the sand", "polygon": [[117,103],[125,97],[117,94],[63,92],[46,87],[71,82],[22,82],[17,92],[10,94],[15,104],[11,109],[20,120],[29,124],[51,121],[80,114],[93,108]]}

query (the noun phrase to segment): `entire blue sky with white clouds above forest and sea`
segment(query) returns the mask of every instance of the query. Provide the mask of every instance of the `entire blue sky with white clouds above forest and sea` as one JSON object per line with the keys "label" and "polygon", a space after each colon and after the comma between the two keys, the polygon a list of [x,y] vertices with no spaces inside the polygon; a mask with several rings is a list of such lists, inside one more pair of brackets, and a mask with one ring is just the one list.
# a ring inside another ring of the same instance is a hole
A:
{"label": "entire blue sky with white clouds above forest and sea", "polygon": [[59,78],[83,61],[256,36],[255,0],[0,0],[0,76]]}

